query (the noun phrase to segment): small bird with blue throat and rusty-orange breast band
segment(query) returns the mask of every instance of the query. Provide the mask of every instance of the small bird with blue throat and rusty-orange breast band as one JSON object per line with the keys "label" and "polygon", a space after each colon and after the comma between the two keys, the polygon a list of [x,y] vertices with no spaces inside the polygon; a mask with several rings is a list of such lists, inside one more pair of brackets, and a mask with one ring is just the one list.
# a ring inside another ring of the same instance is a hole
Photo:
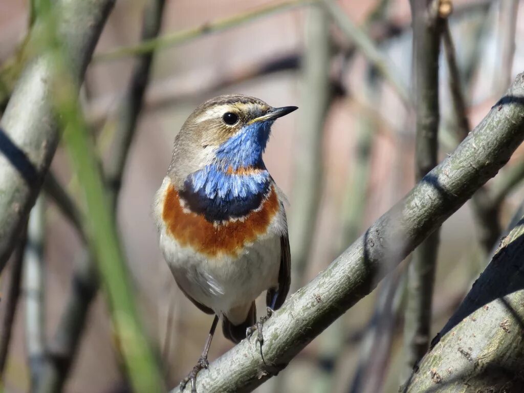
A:
{"label": "small bird with blue throat and rusty-orange breast band", "polygon": [[[242,94],[198,106],[174,138],[167,174],[156,193],[159,243],[173,278],[201,311],[214,314],[202,354],[187,377],[208,368],[219,320],[233,343],[258,330],[281,307],[291,282],[286,197],[263,152],[277,118],[297,106],[272,107]],[[255,299],[266,291],[267,315]]]}

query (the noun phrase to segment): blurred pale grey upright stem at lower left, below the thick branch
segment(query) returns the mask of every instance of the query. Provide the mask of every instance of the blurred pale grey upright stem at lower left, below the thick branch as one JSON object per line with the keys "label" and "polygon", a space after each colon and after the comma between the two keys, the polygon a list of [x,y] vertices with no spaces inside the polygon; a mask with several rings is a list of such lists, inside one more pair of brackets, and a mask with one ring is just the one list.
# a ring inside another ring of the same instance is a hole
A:
{"label": "blurred pale grey upright stem at lower left, below the thick branch", "polygon": [[43,266],[45,244],[45,202],[40,195],[29,215],[24,255],[24,296],[26,305],[26,345],[31,391],[37,387],[45,348],[45,302]]}

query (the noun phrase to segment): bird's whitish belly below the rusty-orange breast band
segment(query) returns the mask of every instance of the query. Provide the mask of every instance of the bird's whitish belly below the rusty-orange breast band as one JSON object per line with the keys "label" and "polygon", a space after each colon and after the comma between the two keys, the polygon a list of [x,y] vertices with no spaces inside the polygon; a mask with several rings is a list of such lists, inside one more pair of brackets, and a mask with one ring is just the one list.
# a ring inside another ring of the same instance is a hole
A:
{"label": "bird's whitish belly below the rusty-orange breast band", "polygon": [[160,234],[160,247],[178,285],[217,315],[250,303],[260,293],[278,287],[280,237],[261,238],[238,257],[206,257]]}

